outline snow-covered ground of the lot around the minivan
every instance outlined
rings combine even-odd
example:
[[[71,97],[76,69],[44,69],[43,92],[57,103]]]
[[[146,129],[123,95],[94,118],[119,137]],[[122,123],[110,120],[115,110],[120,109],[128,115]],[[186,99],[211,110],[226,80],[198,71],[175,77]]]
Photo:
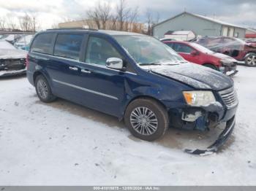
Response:
[[[115,117],[61,99],[43,104],[26,77],[0,79],[0,184],[256,185],[256,68],[238,70],[236,129],[204,157],[183,149],[208,146],[209,133],[170,129],[140,141]]]

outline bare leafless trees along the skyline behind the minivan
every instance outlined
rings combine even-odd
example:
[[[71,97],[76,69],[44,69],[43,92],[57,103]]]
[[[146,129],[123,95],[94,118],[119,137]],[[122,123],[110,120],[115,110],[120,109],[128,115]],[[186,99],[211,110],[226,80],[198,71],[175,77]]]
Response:
[[[113,7],[108,1],[98,1],[94,7],[86,10],[86,15],[82,18],[85,22],[84,25],[90,28],[132,31],[150,35],[152,26],[159,22],[159,14],[154,15],[150,10],[147,10],[143,21],[140,20],[139,23],[139,17],[143,16],[140,14],[139,7],[129,7],[127,2],[127,0],[118,0],[118,4]],[[93,22],[88,22],[89,20]],[[64,21],[71,20],[69,18]],[[58,24],[53,24],[52,28],[58,28]],[[17,18],[11,15],[0,17],[0,30],[2,31],[35,32],[39,29],[41,29],[39,20],[34,14],[25,13],[22,17],[18,17],[18,22]]]

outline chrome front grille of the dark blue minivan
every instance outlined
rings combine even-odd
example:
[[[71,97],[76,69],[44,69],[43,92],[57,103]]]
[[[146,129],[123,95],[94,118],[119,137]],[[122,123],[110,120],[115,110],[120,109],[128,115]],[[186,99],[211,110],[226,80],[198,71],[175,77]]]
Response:
[[[234,90],[233,87],[227,90],[220,91],[219,95],[221,95],[222,101],[224,102],[228,109],[233,108],[238,104],[236,90]]]

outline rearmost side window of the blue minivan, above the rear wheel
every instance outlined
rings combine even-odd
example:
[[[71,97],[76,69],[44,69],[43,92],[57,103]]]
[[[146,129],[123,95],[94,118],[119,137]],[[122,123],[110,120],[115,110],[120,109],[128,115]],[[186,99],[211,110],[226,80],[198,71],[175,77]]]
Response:
[[[55,34],[51,33],[37,35],[31,45],[31,52],[52,54],[52,42],[54,37]]]

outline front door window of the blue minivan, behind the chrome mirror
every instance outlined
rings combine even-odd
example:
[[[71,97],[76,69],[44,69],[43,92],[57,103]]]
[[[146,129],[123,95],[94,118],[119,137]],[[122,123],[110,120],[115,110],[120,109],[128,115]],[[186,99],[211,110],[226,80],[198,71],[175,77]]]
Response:
[[[86,63],[105,66],[108,58],[121,58],[121,55],[107,40],[91,36],[86,50]]]

